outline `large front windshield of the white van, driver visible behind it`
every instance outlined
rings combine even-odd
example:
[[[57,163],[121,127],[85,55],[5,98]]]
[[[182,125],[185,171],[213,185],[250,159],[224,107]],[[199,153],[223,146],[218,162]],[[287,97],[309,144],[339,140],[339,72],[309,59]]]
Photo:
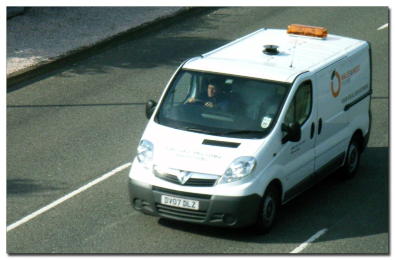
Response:
[[[181,70],[155,121],[186,131],[263,138],[273,128],[290,84]]]

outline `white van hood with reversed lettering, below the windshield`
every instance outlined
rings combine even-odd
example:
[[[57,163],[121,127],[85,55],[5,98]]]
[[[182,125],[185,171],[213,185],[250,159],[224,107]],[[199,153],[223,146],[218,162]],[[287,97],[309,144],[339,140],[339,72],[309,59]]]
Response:
[[[178,130],[150,122],[142,139],[154,145],[154,165],[222,175],[241,156],[253,156],[264,139],[239,139]]]

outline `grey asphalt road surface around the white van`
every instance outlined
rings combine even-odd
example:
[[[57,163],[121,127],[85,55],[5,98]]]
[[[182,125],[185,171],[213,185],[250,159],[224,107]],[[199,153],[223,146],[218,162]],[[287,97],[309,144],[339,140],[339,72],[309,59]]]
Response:
[[[260,28],[323,26],[372,46],[370,142],[357,176],[329,176],[285,204],[265,236],[131,209],[128,163],[158,100],[187,58]],[[387,8],[221,8],[151,33],[7,94],[7,226],[111,176],[7,231],[8,253],[388,253]],[[262,43],[264,45],[264,43]],[[124,169],[116,169],[119,166]]]

